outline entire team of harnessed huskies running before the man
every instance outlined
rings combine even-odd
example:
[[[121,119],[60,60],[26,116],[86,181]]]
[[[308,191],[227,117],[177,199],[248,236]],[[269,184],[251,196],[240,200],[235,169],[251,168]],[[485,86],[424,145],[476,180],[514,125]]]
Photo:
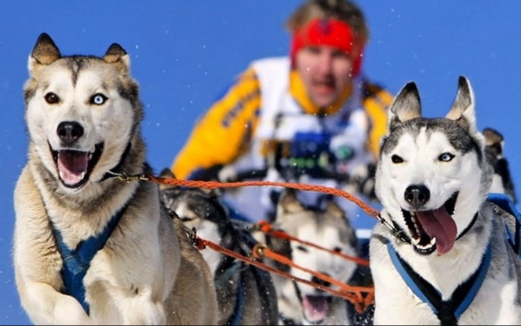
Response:
[[[117,43],[100,57],[63,56],[46,33],[28,58],[28,161],[14,193],[13,261],[31,321],[362,323],[346,300],[210,249],[200,252],[192,235],[196,229],[233,250],[272,243],[292,261],[342,282],[360,275],[354,263],[244,234],[215,194],[117,177],[153,171],[145,161],[143,106],[130,65]],[[511,243],[519,236],[518,220],[508,209],[516,198],[502,142],[492,129],[478,130],[474,93],[464,76],[445,117],[422,116],[415,83],[399,91],[377,164],[375,191],[385,223],[377,223],[370,237],[366,275],[375,301],[365,323],[521,324],[521,266]],[[222,214],[220,220],[213,214]],[[274,224],[360,256],[347,221],[336,204],[311,211],[288,190]]]

